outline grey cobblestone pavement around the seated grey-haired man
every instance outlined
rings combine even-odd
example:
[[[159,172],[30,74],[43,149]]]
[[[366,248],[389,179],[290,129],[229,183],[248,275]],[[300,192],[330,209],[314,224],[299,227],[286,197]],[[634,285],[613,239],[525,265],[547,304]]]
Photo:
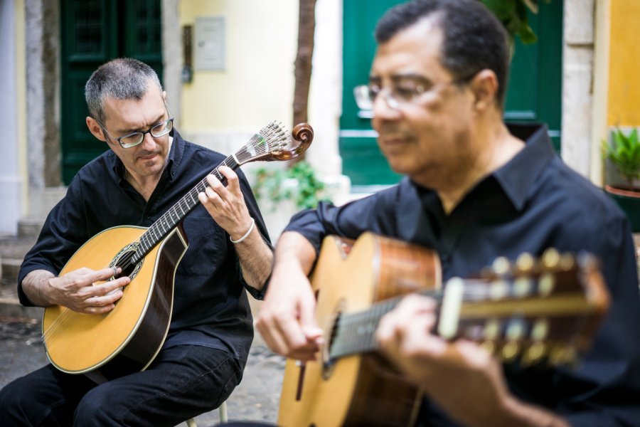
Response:
[[[47,363],[39,320],[0,317],[0,388]],[[229,421],[275,423],[284,372],[284,358],[256,335],[242,382],[227,401]],[[219,423],[218,411],[196,418],[198,427]],[[186,424],[181,424],[186,426]]]

